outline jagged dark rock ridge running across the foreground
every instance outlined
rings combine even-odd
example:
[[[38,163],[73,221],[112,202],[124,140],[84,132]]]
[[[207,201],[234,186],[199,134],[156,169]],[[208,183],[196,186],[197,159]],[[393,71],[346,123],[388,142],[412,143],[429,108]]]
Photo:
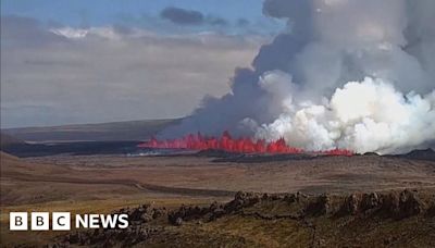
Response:
[[[427,199],[424,198],[426,201]],[[432,199],[432,198],[431,198]],[[428,206],[428,208],[426,208]],[[424,213],[435,215],[435,204],[425,203],[415,190],[391,193],[307,196],[296,194],[256,194],[239,191],[225,204],[213,202],[210,206],[182,206],[176,210],[153,208],[142,204],[138,208],[121,209],[116,213],[129,215],[129,226],[125,230],[88,230],[66,235],[55,247],[79,245],[90,247],[129,247],[152,238],[151,235],[164,233],[167,224],[184,226],[186,222],[202,224],[232,214],[240,218],[256,218],[264,221],[293,220],[306,226],[314,226],[314,216],[340,218],[338,214],[370,218],[405,219]],[[423,215],[422,215],[423,216]],[[310,224],[311,223],[311,224]],[[314,228],[314,227],[313,227]],[[385,244],[394,240],[385,239]]]

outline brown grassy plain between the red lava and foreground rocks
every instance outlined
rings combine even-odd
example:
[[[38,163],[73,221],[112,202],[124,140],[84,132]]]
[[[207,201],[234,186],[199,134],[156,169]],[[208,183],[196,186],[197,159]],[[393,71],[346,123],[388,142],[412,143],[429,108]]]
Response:
[[[0,181],[2,246],[20,244],[38,246],[64,235],[55,232],[10,232],[8,231],[10,211],[59,210],[72,213],[109,213],[120,208],[146,202],[175,209],[182,203],[203,206],[212,201],[225,202],[239,190],[344,195],[413,188],[428,195],[435,193],[434,161],[378,156],[322,157],[261,163],[213,160],[197,156],[52,156],[18,159],[2,152]],[[247,221],[249,223],[244,223]],[[203,240],[207,240],[206,234],[212,238],[210,234],[214,233],[222,236],[213,236],[222,241],[216,244],[224,246],[232,244],[229,240],[224,241],[225,235],[232,234],[235,237],[247,238],[252,241],[248,244],[256,246],[262,244],[277,247],[283,243],[293,243],[306,247],[301,240],[304,240],[303,235],[307,234],[302,232],[300,233],[302,236],[294,236],[291,239],[287,231],[297,226],[283,221],[277,222],[278,224],[273,225],[271,222],[226,216],[201,226],[197,234],[195,225],[192,227],[188,223],[177,232],[184,234],[183,237],[202,235]],[[286,225],[290,226],[287,228]],[[410,224],[406,224],[408,225]],[[272,238],[266,234],[269,231],[265,231],[271,228],[278,232],[276,228],[284,227],[287,231],[278,235],[279,238]],[[224,232],[225,228],[228,231]],[[256,233],[256,230],[263,231]],[[294,235],[297,233],[294,231]],[[156,244],[160,244],[159,240]],[[152,244],[148,243],[148,246]]]

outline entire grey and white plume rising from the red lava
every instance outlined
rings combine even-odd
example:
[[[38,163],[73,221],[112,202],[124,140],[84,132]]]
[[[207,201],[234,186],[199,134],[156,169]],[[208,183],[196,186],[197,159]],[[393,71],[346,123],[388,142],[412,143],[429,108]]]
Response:
[[[287,20],[232,92],[164,136],[200,131],[309,150],[402,152],[435,140],[435,1],[265,0]]]

